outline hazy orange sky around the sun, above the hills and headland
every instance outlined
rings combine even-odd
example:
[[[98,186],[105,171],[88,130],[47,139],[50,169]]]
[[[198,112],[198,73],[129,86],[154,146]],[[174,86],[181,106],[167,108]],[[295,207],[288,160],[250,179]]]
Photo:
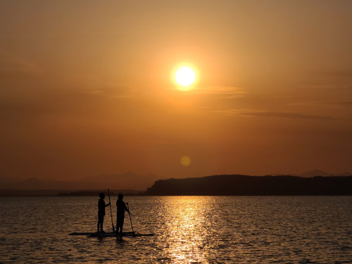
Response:
[[[352,172],[351,32],[348,0],[2,0],[0,174]]]

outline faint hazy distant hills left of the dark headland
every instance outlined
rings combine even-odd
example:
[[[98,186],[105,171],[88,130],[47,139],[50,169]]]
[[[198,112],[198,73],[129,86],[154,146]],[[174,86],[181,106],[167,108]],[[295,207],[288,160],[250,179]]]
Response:
[[[130,189],[145,191],[156,180],[165,179],[157,175],[137,175],[132,172],[124,174],[97,175],[80,180],[59,181],[53,179],[39,180],[34,177],[25,180],[0,176],[0,189],[12,190],[96,190],[96,189]]]

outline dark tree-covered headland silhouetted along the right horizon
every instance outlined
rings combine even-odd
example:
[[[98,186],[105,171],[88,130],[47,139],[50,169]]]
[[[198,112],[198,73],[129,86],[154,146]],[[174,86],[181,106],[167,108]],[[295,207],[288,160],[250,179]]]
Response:
[[[146,195],[352,195],[352,176],[215,175],[158,180]]]

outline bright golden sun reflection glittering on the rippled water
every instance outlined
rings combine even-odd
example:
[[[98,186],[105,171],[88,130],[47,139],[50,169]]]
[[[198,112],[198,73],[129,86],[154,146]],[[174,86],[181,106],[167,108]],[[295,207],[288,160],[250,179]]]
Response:
[[[166,251],[174,263],[207,263],[206,250],[211,236],[209,208],[203,196],[170,197],[166,210]]]

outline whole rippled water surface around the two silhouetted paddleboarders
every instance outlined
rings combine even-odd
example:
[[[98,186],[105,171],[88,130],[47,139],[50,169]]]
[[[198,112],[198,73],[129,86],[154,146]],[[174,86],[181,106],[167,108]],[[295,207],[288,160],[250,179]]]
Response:
[[[97,197],[0,197],[0,263],[352,263],[351,196],[124,200],[134,230],[156,236],[68,235],[95,232]]]

